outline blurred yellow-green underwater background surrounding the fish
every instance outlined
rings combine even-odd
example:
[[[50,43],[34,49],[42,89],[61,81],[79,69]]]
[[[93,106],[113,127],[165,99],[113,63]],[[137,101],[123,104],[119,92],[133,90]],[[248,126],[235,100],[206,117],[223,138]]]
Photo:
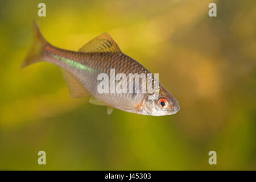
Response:
[[[38,3],[46,17],[38,17]],[[217,17],[208,16],[210,2]],[[256,2],[0,1],[0,169],[256,169]],[[32,19],[76,51],[109,32],[179,101],[151,117],[72,99],[53,64],[20,65]],[[47,164],[39,166],[38,151]],[[209,165],[208,152],[217,152]]]

